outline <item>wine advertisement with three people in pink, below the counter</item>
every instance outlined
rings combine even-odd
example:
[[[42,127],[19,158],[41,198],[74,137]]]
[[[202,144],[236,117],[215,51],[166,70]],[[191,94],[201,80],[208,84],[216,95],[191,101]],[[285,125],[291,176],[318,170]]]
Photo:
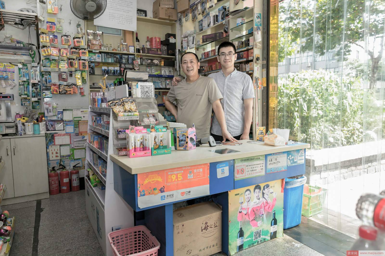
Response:
[[[283,183],[229,191],[229,253],[283,236]]]

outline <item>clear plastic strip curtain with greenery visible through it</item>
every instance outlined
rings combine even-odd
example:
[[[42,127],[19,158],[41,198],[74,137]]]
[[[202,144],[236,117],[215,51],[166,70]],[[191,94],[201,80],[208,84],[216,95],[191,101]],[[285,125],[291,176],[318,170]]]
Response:
[[[279,3],[269,128],[310,143],[308,183],[327,190],[312,218],[352,236],[359,196],[385,190],[384,48],[384,0]]]

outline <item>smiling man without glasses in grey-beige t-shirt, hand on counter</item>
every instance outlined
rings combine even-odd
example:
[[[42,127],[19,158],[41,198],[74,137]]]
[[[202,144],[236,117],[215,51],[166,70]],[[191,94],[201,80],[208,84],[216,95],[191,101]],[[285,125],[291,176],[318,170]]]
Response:
[[[184,123],[187,127],[194,123],[198,139],[210,135],[211,111],[214,110],[223,138],[234,141],[226,127],[220,102],[222,94],[213,78],[198,74],[200,64],[195,53],[187,52],[182,55],[181,66],[187,77],[180,81],[178,86],[171,87],[164,105],[178,123]],[[178,109],[174,101],[177,101]]]

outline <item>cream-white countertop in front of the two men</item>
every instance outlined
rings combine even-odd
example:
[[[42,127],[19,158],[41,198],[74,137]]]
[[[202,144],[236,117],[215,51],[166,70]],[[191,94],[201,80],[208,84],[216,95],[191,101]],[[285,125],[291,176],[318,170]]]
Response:
[[[247,143],[247,141],[249,140],[240,140],[239,142],[242,142],[243,144],[238,146],[220,145],[210,147],[208,144],[203,144],[195,150],[173,150],[171,154],[160,156],[129,158],[128,156],[117,156],[115,154],[111,154],[110,159],[129,173],[138,174],[149,171],[166,170],[181,166],[199,165],[203,163],[226,161],[236,158],[266,155],[310,147],[309,144],[299,144],[294,146],[269,146],[262,143],[251,144]],[[238,150],[239,152],[223,155],[211,152],[211,150],[223,148]]]

